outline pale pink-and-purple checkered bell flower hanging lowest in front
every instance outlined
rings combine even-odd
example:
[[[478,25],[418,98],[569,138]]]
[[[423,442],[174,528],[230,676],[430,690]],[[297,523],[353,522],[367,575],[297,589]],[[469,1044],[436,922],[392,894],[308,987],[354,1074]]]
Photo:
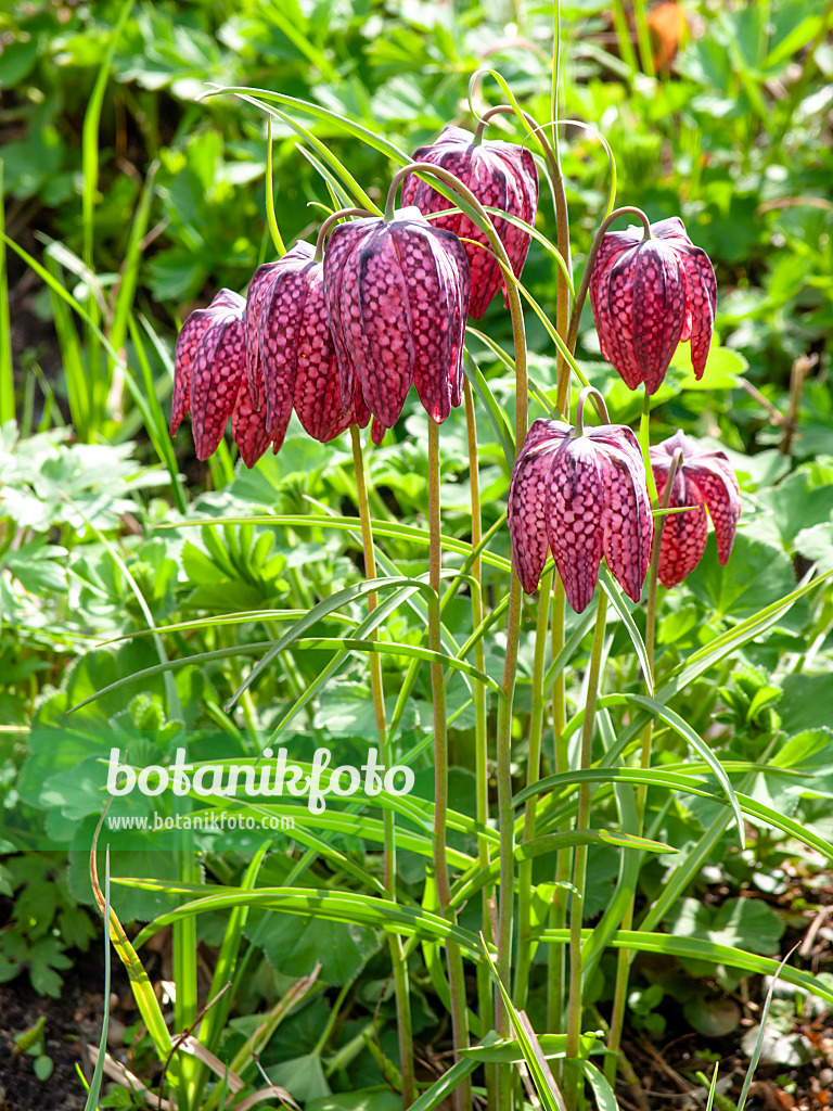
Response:
[[[509,488],[521,585],[534,591],[551,549],[576,613],[593,597],[602,557],[628,597],[640,600],[654,528],[636,437],[622,424],[583,428],[588,392],[579,399],[575,427],[535,421]]]

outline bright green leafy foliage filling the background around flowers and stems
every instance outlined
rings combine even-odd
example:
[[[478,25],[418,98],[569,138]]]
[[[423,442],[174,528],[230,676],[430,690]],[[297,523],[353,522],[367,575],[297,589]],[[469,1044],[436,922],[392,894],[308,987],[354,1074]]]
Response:
[[[544,1029],[543,957],[565,940],[549,914],[563,911],[571,891],[559,871],[555,850],[566,850],[558,838],[576,812],[580,784],[592,782],[592,829],[574,842],[590,844],[583,909],[594,933],[585,942],[585,1001],[608,1007],[615,978],[609,947],[660,954],[662,974],[650,961],[634,963],[631,1027],[662,1033],[682,1004],[690,1025],[715,1038],[737,1025],[730,993],[741,979],[772,973],[787,925],[753,892],[775,890],[787,865],[821,868],[820,855],[833,851],[830,580],[782,604],[812,568],[833,570],[830,11],[822,0],[790,0],[772,11],[757,2],[735,11],[700,6],[705,33],[682,43],[673,77],[654,80],[633,71],[626,49],[621,58],[610,51],[604,7],[562,6],[564,114],[604,131],[616,153],[620,203],[640,204],[652,220],[682,213],[714,261],[721,289],[720,343],[705,377],[694,380],[681,348],[652,399],[651,436],[683,428],[726,449],[743,514],[725,567],[710,539],[685,582],[661,591],[654,702],[644,698],[645,614],[613,598],[593,778],[565,772],[516,797],[532,799],[542,850],[515,857],[535,892],[528,1009],[535,1029]],[[182,953],[192,960],[201,941],[219,952],[212,990],[229,980],[233,989],[200,1037],[234,1062],[249,1095],[261,1083],[249,1052],[254,1038],[270,1081],[310,1111],[391,1111],[395,1103],[390,1088],[401,1080],[402,1061],[387,934],[404,939],[414,1037],[425,1043],[440,1037],[450,1001],[438,958],[448,937],[462,947],[468,970],[479,964],[481,978],[485,971],[473,895],[495,881],[500,864],[498,834],[479,823],[474,702],[480,685],[493,730],[506,654],[511,328],[495,302],[478,329],[488,342],[470,330],[466,360],[483,528],[496,527],[483,551],[483,588],[498,619],[472,629],[472,472],[465,420],[455,411],[442,429],[445,593],[442,653],[431,654],[428,461],[415,403],[367,459],[381,600],[374,620],[347,442],[324,447],[293,426],[280,454],[254,469],[225,446],[207,469],[185,433],[175,443],[168,434],[178,322],[220,287],[243,291],[255,266],[271,258],[262,104],[194,98],[209,83],[275,94],[269,103],[282,114],[272,119],[274,193],[289,246],[309,239],[321,207],[333,202],[322,161],[331,183],[338,178],[349,189],[352,177],[378,202],[402,152],[451,120],[470,126],[461,104],[486,52],[524,108],[548,120],[545,8],[529,6],[525,26],[512,28],[485,6],[379,0],[42,3],[0,16],[0,83],[17,128],[2,151],[7,234],[42,259],[44,270],[30,272],[51,277],[33,308],[54,329],[62,367],[50,386],[38,366],[42,352],[31,351],[22,382],[0,347],[0,418],[14,408],[9,383],[21,402],[20,424],[6,419],[0,429],[0,891],[13,900],[0,930],[0,980],[28,973],[39,992],[58,995],[70,950],[89,944],[87,852],[112,748],[137,769],[170,765],[185,735],[195,763],[254,761],[274,743],[305,768],[320,744],[360,764],[375,743],[367,678],[373,651],[388,721],[395,721],[393,754],[415,772],[407,799],[330,798],[318,823],[292,800],[264,803],[299,822],[294,834],[270,834],[267,845],[259,830],[200,831],[174,844],[142,829],[119,840],[106,828],[101,839],[102,849],[111,845],[120,919],[155,919],[180,931],[177,1023],[195,1019],[195,973],[184,974]],[[483,88],[492,102],[493,86]],[[509,138],[526,139],[503,119]],[[571,236],[579,278],[604,212],[608,162],[578,128],[568,130],[561,153],[578,213]],[[536,230],[554,241],[543,174],[542,196]],[[31,213],[40,240],[30,234]],[[0,264],[4,302],[6,267],[13,287],[19,257],[9,249]],[[523,280],[551,317],[555,278],[553,260],[533,242]],[[556,361],[532,312],[526,328],[534,419],[553,403]],[[589,310],[579,358],[611,419],[635,421],[639,399],[606,363],[593,361]],[[73,431],[58,427],[61,413]],[[538,697],[535,623],[528,601],[511,722],[518,792]],[[565,631],[568,650],[554,662],[548,655],[544,685],[563,672],[569,734],[578,740],[592,615],[582,623],[571,614]],[[453,925],[439,914],[431,885],[426,663],[438,659],[454,764],[446,815],[452,905],[460,911]],[[649,717],[653,763],[640,772],[635,745]],[[544,755],[544,772],[554,772],[551,747]],[[746,823],[741,845],[730,800]],[[200,807],[214,817],[260,817],[263,809],[242,799]],[[116,800],[109,813],[142,820],[153,809],[175,817],[169,799],[151,807],[138,795]],[[390,815],[395,904],[380,899]],[[520,842],[522,810],[515,819]],[[659,853],[663,845],[676,851]],[[44,848],[51,851],[34,851]],[[721,898],[705,900],[715,882]],[[623,940],[621,913],[634,892],[644,909]],[[301,978],[309,983],[294,994]],[[830,983],[801,968],[789,979],[815,983],[831,999]],[[750,1057],[757,1045],[763,1060],[795,1065],[806,1058],[806,1039],[794,1030],[792,1002],[781,1002],[742,1047]],[[272,1015],[265,1030],[264,1009]],[[525,1015],[512,1018],[515,1037],[495,1043],[483,1029],[480,1045],[421,1094],[420,1111],[438,1107],[481,1063],[522,1057],[542,1100],[553,1098],[550,1070],[561,1075],[564,1035],[535,1039]],[[593,1021],[589,1009],[584,1021]],[[42,1030],[40,1038],[32,1045],[41,1047],[37,1074],[44,1080]],[[612,1090],[586,1060],[599,1047],[591,1033],[581,1039],[583,1077],[608,1109]],[[178,1092],[204,1093],[208,1111],[221,1104],[221,1081],[208,1067],[178,1068],[169,1078]],[[113,1093],[100,1105],[133,1104]]]

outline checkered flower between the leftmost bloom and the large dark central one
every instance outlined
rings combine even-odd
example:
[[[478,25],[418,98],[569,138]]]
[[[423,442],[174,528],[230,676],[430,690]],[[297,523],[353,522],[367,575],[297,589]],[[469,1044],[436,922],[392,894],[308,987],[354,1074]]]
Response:
[[[314,248],[297,243],[277,262],[259,267],[249,286],[245,354],[249,388],[265,400],[265,429],[278,451],[294,409],[303,429],[328,443],[370,412],[353,391],[342,408],[335,347],[330,333],[323,264]]]

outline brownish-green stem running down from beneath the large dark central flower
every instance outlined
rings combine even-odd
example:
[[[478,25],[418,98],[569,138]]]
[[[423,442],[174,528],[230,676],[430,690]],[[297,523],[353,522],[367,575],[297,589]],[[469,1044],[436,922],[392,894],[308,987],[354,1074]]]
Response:
[[[429,584],[434,594],[429,602],[429,645],[434,652],[442,651],[440,587],[442,571],[441,521],[440,521],[440,428],[435,421],[428,421],[428,522],[429,522]],[[440,912],[449,921],[454,921],[450,908],[451,883],[449,862],[445,855],[446,812],[449,809],[449,739],[445,721],[445,675],[442,663],[431,664],[431,694],[434,703],[434,878]],[[445,960],[451,989],[451,1027],[454,1049],[469,1045],[469,1015],[465,1002],[465,980],[460,945],[451,939],[445,942]],[[455,1060],[459,1058],[455,1054]],[[471,1080],[466,1078],[454,1090],[455,1111],[471,1109]]]

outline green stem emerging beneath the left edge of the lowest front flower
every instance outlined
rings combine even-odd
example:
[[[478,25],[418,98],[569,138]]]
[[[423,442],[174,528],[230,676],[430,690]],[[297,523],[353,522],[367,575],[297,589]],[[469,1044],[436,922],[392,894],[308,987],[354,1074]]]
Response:
[[[541,579],[535,627],[535,657],[532,667],[532,717],[530,721],[530,753],[526,759],[526,785],[532,787],[541,777],[541,739],[544,727],[544,662],[550,624],[550,595],[553,572]],[[536,799],[529,799],[524,814],[523,840],[535,835]],[[514,1003],[519,1010],[526,1004],[530,969],[536,942],[532,940],[532,860],[521,862],[518,898],[518,968],[515,971]]]

